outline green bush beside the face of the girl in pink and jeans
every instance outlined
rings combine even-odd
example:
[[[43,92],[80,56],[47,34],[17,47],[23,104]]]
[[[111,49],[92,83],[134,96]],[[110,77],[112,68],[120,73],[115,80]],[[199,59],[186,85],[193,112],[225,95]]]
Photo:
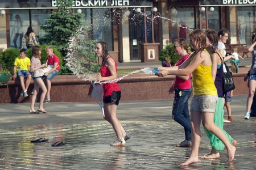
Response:
[[[171,60],[171,65],[174,66],[180,56],[177,56],[174,50],[174,44],[168,44],[166,48],[162,49],[160,52],[159,59],[160,61],[166,61],[166,59]]]

